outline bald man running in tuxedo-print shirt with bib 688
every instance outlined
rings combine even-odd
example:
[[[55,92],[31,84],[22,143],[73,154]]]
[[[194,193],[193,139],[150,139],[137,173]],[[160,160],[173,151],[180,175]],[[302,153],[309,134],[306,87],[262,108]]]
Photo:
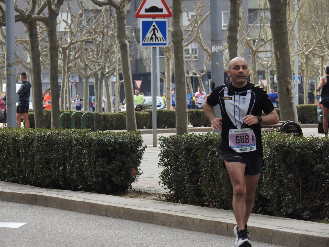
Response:
[[[231,82],[217,86],[204,101],[204,112],[213,130],[222,130],[222,157],[233,186],[233,231],[237,247],[251,246],[247,222],[254,204],[260,172],[264,167],[261,122],[277,124],[279,117],[266,90],[247,81],[247,62],[236,57],[229,62]],[[219,104],[221,118],[215,115]],[[261,116],[262,111],[266,116]]]

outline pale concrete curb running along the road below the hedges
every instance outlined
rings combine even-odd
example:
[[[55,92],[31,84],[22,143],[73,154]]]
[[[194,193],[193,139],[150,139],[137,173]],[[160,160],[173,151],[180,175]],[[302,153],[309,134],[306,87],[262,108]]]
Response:
[[[21,186],[24,186],[23,189],[25,190],[28,188],[33,188],[35,190],[40,189],[43,191],[45,190],[33,186]],[[120,197],[88,192],[63,190],[48,191],[50,192],[25,192],[0,188],[0,201],[47,206],[80,213],[133,220],[179,229],[234,237],[232,229],[236,225],[235,219],[233,212],[227,210],[125,198],[125,202],[135,204],[127,205],[122,203],[123,201]],[[64,193],[67,195],[52,193]],[[97,200],[86,199],[86,197],[96,198]],[[121,203],[110,202],[113,200],[121,200]],[[156,205],[156,207],[154,207],[154,205]],[[184,209],[186,212],[168,210],[165,208]],[[202,210],[203,212],[207,211],[211,217],[189,213],[189,211],[193,210]],[[220,218],[218,217],[218,214],[225,215],[226,218]],[[260,220],[259,223],[248,224],[248,230],[251,232],[250,240],[291,247],[329,247],[329,237],[327,233],[307,232],[262,224],[262,222],[266,221],[268,218],[269,220],[288,220],[288,223],[289,221],[295,223],[296,220],[257,214],[252,215],[255,217],[260,217]],[[298,221],[297,224],[299,224],[299,222],[300,224],[303,223],[302,221]]]

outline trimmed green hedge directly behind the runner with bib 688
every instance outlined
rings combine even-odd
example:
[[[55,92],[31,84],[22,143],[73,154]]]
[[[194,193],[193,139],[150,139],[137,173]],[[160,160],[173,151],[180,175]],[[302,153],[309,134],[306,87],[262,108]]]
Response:
[[[329,213],[329,139],[263,132],[265,168],[253,212],[295,219]],[[166,200],[232,210],[232,186],[221,157],[221,134],[160,137]]]

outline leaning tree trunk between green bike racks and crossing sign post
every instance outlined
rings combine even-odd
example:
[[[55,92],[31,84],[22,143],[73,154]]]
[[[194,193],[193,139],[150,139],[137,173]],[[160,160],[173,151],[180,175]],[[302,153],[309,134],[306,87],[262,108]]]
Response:
[[[135,117],[132,75],[129,60],[129,43],[127,41],[126,34],[126,15],[127,13],[123,6],[120,6],[120,9],[116,9],[116,36],[120,47],[122,77],[124,93],[126,96],[126,125],[128,131],[133,131],[137,129],[137,125]]]

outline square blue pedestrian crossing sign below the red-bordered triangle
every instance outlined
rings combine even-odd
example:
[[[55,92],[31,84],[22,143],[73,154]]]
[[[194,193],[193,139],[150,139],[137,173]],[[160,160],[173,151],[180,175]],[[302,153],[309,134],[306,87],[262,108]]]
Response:
[[[141,46],[167,46],[168,23],[166,19],[140,20]]]

